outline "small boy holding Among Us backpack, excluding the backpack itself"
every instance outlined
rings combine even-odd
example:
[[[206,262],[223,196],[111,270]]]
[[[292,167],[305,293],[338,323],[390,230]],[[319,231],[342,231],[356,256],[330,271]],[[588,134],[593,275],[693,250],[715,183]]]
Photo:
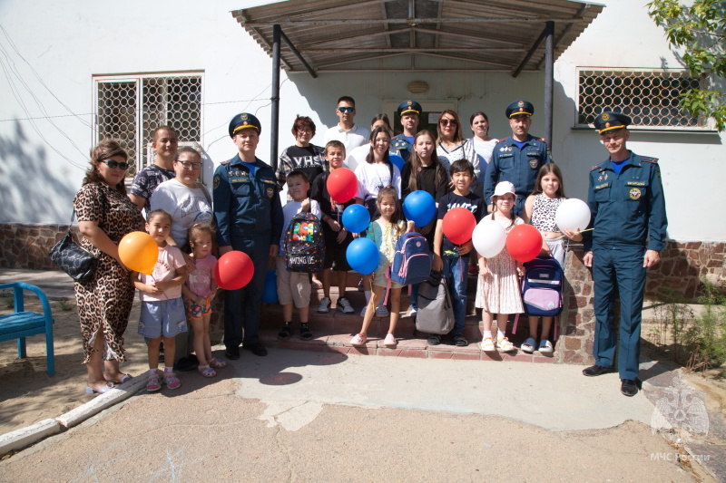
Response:
[[[308,175],[304,171],[295,169],[288,174],[288,196],[292,198],[282,207],[282,215],[285,218],[283,227],[289,225],[292,217],[300,212],[310,212],[316,217],[321,217],[320,207],[317,201],[308,198],[310,183]],[[312,339],[312,332],[308,325],[309,304],[310,304],[310,278],[309,274],[301,272],[290,272],[285,268],[285,231],[280,236],[280,253],[277,257],[276,272],[278,279],[278,298],[282,305],[282,320],[284,324],[278,337],[289,339],[292,335],[292,304],[298,307],[300,317],[300,339],[309,341]]]

